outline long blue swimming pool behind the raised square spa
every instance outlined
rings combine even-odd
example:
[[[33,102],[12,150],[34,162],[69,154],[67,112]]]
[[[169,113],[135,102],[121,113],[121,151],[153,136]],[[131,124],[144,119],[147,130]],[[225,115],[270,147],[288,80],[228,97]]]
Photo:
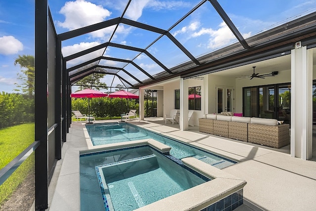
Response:
[[[152,138],[170,146],[170,155],[177,159],[194,157],[218,169],[223,169],[237,163],[222,156],[197,149],[196,147],[181,143],[178,140],[165,137],[128,123],[93,124],[86,125],[86,128],[93,145]]]

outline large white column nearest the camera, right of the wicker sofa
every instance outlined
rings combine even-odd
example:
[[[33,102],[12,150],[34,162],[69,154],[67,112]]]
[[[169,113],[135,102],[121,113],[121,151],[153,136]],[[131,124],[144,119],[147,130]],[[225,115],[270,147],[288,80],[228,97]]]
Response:
[[[291,50],[291,156],[312,158],[313,52]]]

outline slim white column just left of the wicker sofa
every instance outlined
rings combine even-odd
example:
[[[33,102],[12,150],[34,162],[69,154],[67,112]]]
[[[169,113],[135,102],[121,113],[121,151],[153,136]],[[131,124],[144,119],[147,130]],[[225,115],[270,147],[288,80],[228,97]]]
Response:
[[[189,128],[189,87],[188,80],[180,78],[180,130]]]

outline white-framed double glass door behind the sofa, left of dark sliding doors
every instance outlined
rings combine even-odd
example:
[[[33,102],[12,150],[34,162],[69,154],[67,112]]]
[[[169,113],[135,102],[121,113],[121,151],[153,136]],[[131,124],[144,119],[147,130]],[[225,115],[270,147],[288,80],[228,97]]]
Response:
[[[216,113],[233,112],[233,91],[231,86],[216,87]]]

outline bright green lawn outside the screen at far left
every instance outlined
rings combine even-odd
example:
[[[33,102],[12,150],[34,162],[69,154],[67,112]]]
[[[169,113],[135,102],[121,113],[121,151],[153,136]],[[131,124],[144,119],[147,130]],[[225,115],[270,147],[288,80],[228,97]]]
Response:
[[[35,139],[35,124],[0,129],[0,169],[25,150]],[[29,173],[34,173],[34,153],[0,186],[0,205],[8,199]]]

